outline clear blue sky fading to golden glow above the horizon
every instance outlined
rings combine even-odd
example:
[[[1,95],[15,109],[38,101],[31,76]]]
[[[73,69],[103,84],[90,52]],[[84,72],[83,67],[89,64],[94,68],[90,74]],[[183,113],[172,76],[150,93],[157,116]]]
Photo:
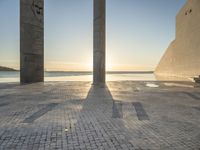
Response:
[[[186,0],[107,0],[107,70],[154,70]],[[0,66],[19,68],[19,0],[0,0]],[[92,70],[93,0],[45,0],[45,69]]]

